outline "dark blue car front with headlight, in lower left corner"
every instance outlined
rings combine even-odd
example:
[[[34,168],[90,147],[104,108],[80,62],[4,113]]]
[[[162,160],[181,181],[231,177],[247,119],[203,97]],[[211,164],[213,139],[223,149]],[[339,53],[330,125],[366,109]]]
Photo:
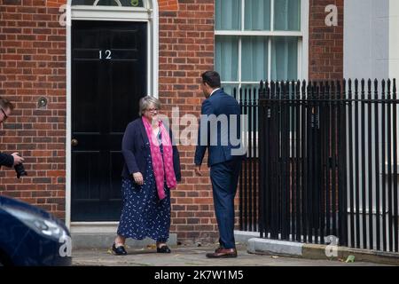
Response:
[[[66,226],[43,209],[0,196],[0,266],[72,263]]]

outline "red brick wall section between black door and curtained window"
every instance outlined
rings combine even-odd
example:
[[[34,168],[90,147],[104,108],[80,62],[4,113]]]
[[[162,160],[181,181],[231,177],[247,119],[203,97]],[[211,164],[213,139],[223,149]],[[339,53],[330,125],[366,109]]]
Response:
[[[160,99],[165,109],[200,114],[201,73],[214,65],[214,0],[179,0],[178,11],[160,12]],[[172,227],[182,242],[215,241],[212,190],[193,172],[194,146],[179,146],[183,181],[172,193]]]

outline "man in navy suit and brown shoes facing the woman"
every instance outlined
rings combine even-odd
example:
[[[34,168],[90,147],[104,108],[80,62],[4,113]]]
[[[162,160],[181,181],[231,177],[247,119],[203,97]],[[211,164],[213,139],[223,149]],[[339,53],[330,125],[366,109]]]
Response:
[[[198,146],[195,151],[195,172],[200,167],[206,150],[207,165],[214,195],[215,215],[219,226],[220,247],[207,257],[237,257],[234,241],[234,197],[237,192],[242,151],[239,138],[241,110],[236,99],[221,89],[220,75],[207,71],[202,76],[202,103]]]

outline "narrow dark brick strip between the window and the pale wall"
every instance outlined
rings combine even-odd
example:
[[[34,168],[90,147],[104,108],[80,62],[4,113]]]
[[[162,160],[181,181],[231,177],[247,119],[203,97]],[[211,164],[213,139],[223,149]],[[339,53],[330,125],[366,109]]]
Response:
[[[325,7],[338,8],[338,26],[325,26]],[[344,0],[309,0],[309,80],[343,77]]]

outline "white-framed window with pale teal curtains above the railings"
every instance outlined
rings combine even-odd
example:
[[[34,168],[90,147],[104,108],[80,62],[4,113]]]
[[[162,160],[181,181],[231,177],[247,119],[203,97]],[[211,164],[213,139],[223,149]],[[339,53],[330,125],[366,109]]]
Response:
[[[301,0],[215,0],[215,69],[225,91],[304,78],[301,10]]]

